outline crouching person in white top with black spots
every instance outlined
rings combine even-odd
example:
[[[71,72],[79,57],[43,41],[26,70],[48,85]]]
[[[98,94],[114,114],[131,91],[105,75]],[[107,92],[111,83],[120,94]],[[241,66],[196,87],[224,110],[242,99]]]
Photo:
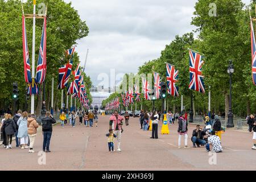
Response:
[[[216,136],[216,131],[212,130],[210,137],[208,137],[208,143],[206,144],[207,152],[222,152],[220,137]]]

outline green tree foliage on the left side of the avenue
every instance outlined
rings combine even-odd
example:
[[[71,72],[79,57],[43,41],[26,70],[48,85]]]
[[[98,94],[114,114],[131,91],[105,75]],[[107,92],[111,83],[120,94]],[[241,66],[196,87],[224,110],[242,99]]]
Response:
[[[67,57],[64,56],[65,49],[75,46],[78,39],[87,36],[89,28],[86,26],[85,21],[80,19],[77,10],[71,7],[71,3],[65,3],[62,0],[36,1],[36,5],[39,5],[39,3],[48,5],[46,74],[46,98],[48,100],[51,93],[49,90],[51,90],[52,77],[55,78],[55,96],[60,97],[60,92],[57,90],[58,68],[68,61]],[[25,14],[32,14],[32,4],[32,0],[23,3]],[[0,102],[2,106],[8,106],[11,103],[11,83],[18,82],[20,90],[19,103],[22,105],[25,102],[26,88],[23,73],[22,3],[18,0],[0,0],[0,10]],[[37,6],[36,14],[38,12],[39,8]],[[30,64],[32,65],[32,19],[26,19],[26,28]],[[43,19],[36,19],[36,63],[42,28]],[[76,53],[73,59],[73,70],[76,69],[77,64],[79,64],[79,56]],[[89,93],[92,82],[90,77],[85,76],[84,78],[86,89],[88,89]]]

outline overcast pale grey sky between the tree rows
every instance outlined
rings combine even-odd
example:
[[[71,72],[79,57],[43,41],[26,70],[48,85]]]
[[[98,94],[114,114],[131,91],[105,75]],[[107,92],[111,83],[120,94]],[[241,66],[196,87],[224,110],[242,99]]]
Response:
[[[98,75],[137,73],[145,61],[157,59],[175,35],[191,32],[197,0],[64,0],[72,2],[89,35],[78,41],[76,51],[85,72],[98,85]],[[243,0],[246,5],[250,0]]]

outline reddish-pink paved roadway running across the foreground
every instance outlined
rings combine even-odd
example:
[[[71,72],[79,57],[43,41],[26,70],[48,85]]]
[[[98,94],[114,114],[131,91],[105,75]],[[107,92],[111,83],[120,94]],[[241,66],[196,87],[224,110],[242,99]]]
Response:
[[[159,139],[150,139],[151,131],[140,130],[138,118],[130,118],[129,126],[123,126],[122,151],[110,154],[105,136],[109,116],[100,116],[98,127],[76,125],[62,129],[56,125],[50,145],[52,152],[44,153],[45,165],[38,163],[42,159],[38,154],[43,142],[39,129],[34,154],[20,147],[6,150],[1,146],[0,170],[256,170],[251,133],[227,130],[222,135],[224,152],[217,154],[216,165],[210,165],[212,158],[204,147],[177,148],[177,123],[169,127],[169,135],[160,134],[161,126],[162,122],[158,128]],[[195,127],[189,125],[189,146],[192,146],[190,138]]]

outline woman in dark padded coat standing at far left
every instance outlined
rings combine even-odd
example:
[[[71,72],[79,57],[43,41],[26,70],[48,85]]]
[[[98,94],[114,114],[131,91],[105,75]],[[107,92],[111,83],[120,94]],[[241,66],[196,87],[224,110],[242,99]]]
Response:
[[[16,125],[13,118],[11,118],[11,114],[7,115],[7,119],[5,119],[3,125],[6,134],[6,149],[9,149],[12,148],[11,142],[13,141],[14,133],[16,133]]]

